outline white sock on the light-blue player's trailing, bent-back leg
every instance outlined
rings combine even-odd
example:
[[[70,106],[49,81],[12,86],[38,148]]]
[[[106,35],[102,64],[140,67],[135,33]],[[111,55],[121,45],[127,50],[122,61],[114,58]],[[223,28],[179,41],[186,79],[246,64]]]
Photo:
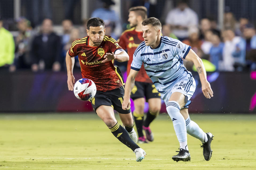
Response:
[[[202,143],[205,143],[208,141],[206,133],[203,132],[201,128],[192,120],[190,120],[190,117],[188,117],[186,120],[186,128],[187,133],[197,139],[199,139]]]

